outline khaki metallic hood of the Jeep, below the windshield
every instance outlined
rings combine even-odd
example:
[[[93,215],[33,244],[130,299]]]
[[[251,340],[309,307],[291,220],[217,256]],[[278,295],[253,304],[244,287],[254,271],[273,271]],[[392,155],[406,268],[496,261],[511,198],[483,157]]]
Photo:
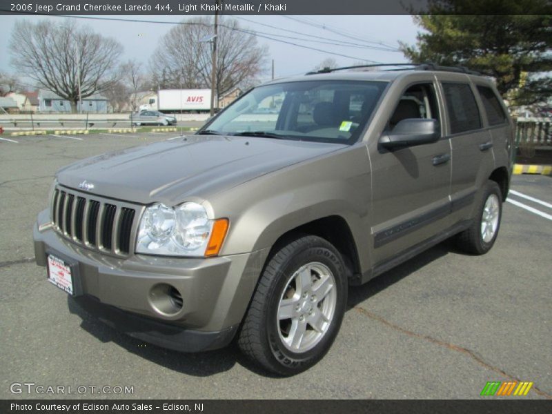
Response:
[[[141,204],[159,201],[175,205],[186,197],[206,199],[340,148],[344,145],[196,135],[77,161],[59,170],[57,181],[79,190],[79,184],[86,180],[93,186],[90,194]]]

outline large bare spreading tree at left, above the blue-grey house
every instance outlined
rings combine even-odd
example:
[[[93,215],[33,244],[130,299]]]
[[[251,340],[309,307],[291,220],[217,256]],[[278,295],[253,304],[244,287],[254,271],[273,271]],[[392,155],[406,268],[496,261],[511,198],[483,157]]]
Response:
[[[117,81],[122,46],[90,28],[65,21],[18,21],[10,43],[12,63],[23,75],[71,102],[111,88]]]

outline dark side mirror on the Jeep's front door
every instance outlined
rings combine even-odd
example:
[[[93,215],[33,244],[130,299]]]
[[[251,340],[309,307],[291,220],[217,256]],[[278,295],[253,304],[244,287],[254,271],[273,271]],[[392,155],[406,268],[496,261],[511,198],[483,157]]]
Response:
[[[393,148],[431,144],[441,136],[439,122],[436,119],[409,118],[400,121],[391,132],[382,135],[380,144]]]

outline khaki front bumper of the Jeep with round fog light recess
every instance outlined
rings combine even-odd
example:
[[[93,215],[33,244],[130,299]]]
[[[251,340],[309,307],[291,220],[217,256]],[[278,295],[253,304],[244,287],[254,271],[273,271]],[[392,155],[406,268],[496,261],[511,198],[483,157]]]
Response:
[[[33,233],[37,264],[46,266],[49,254],[70,262],[75,301],[92,315],[146,342],[190,352],[230,342],[268,255],[264,249],[210,258],[113,257],[58,235],[48,210]],[[165,286],[181,294],[181,308],[167,305]]]

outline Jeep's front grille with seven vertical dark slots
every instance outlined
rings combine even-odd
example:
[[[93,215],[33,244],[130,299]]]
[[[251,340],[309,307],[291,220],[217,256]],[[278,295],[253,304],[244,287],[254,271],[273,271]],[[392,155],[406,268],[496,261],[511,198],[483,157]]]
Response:
[[[52,222],[58,233],[88,248],[127,256],[134,250],[141,206],[56,186]]]

